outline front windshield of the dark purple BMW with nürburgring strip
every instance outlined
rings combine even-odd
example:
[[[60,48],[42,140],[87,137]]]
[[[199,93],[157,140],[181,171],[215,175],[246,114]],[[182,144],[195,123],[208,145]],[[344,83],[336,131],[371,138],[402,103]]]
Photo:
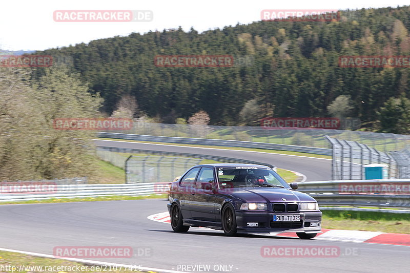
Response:
[[[217,173],[219,188],[243,186],[290,188],[283,178],[268,167],[218,167]]]

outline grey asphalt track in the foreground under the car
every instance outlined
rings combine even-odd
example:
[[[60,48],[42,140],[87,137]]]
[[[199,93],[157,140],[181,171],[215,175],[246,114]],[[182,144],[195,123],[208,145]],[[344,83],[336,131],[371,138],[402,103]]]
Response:
[[[240,235],[196,228],[187,234],[147,219],[166,211],[165,200],[0,206],[0,247],[53,254],[56,246],[131,246],[132,258],[90,259],[177,270],[178,265],[231,265],[217,272],[408,272],[409,248],[324,240]],[[263,258],[262,246],[336,246],[339,257]],[[144,254],[138,256],[138,249]],[[230,268],[227,266],[226,268]],[[202,271],[203,272],[203,271]]]

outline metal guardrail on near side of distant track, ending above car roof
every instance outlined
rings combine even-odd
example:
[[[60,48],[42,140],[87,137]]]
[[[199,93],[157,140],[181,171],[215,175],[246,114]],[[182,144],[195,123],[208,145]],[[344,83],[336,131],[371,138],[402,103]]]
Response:
[[[106,147],[106,146],[98,146],[98,149],[103,149],[106,151],[111,152],[118,152],[118,153],[135,153],[135,154],[152,154],[152,155],[169,155],[169,156],[181,156],[181,157],[191,157],[191,158],[202,158],[202,159],[210,159],[215,160],[223,163],[241,163],[241,164],[258,164],[271,167],[276,171],[276,167],[274,165],[257,162],[252,160],[245,160],[239,158],[231,158],[231,157],[223,157],[223,156],[211,156],[211,155],[201,155],[201,154],[190,154],[190,153],[177,153],[177,152],[165,152],[165,151],[153,151],[153,150],[142,150],[142,149],[133,149],[133,148],[117,148],[117,147]]]

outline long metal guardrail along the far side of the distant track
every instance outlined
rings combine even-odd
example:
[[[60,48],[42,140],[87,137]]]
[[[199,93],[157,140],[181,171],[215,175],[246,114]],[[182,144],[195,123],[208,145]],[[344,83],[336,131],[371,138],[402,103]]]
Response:
[[[133,134],[104,133],[104,132],[99,132],[97,136],[100,138],[116,138],[116,139],[128,139],[128,140],[137,140],[137,141],[197,144],[197,145],[226,146],[226,147],[239,147],[239,148],[257,148],[257,149],[267,149],[267,150],[310,153],[310,154],[317,154],[317,155],[332,155],[332,149],[296,146],[296,145],[288,145],[288,144],[264,143],[264,142],[207,139],[207,138],[148,136],[148,135],[133,135]]]

